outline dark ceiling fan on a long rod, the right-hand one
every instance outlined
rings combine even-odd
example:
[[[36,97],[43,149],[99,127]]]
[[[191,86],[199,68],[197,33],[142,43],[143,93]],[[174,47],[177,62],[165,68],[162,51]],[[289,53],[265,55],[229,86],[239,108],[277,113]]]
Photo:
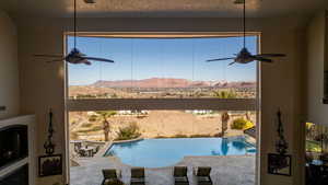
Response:
[[[229,63],[234,65],[234,63],[249,63],[251,61],[263,61],[263,62],[272,62],[273,60],[270,58],[273,57],[285,57],[285,54],[259,54],[259,55],[251,55],[248,49],[246,48],[246,0],[236,0],[236,4],[243,3],[243,39],[244,39],[244,47],[238,54],[235,54],[235,57],[227,57],[227,58],[218,58],[218,59],[210,59],[207,60],[208,62],[210,61],[220,61],[220,60],[233,60],[233,62]]]

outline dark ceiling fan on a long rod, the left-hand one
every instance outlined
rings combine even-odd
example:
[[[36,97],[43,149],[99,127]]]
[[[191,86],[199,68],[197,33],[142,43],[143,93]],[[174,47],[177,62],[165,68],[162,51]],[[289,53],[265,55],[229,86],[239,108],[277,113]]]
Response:
[[[72,50],[66,55],[34,55],[34,57],[42,57],[42,58],[51,58],[48,62],[52,61],[67,61],[73,65],[84,63],[91,65],[91,61],[104,61],[104,62],[114,62],[114,60],[106,59],[106,58],[97,58],[97,57],[87,57],[85,54],[82,54],[77,48],[77,0],[74,0],[74,47]]]

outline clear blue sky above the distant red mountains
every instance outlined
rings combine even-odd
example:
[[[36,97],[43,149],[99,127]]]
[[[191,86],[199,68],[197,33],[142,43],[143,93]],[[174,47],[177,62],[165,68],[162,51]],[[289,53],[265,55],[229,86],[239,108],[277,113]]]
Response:
[[[68,38],[68,50],[73,37]],[[188,80],[255,81],[256,62],[227,66],[227,61],[207,59],[233,57],[242,48],[242,37],[226,38],[95,38],[79,37],[78,48],[91,57],[115,60],[92,66],[69,65],[69,84],[90,84],[97,80],[140,80],[179,78]],[[247,48],[257,50],[256,36],[247,37]]]

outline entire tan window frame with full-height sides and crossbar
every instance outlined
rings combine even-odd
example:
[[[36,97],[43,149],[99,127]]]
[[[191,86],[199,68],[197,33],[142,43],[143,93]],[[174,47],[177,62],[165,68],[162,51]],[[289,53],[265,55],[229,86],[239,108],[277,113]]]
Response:
[[[63,33],[63,54],[67,54],[68,36],[73,32]],[[125,37],[125,38],[190,38],[190,37],[235,37],[243,36],[241,32],[79,32],[78,36],[93,37]],[[261,33],[247,32],[246,36],[257,36],[257,53],[261,49]],[[261,157],[261,63],[256,65],[256,97],[255,99],[69,99],[68,65],[65,62],[65,116],[66,116],[66,149],[69,147],[69,112],[85,111],[121,111],[121,109],[213,109],[213,111],[249,111],[256,112],[257,125],[257,152],[256,152],[256,176],[255,184],[260,181],[260,157]],[[70,182],[70,159],[69,150],[66,150],[66,182]]]

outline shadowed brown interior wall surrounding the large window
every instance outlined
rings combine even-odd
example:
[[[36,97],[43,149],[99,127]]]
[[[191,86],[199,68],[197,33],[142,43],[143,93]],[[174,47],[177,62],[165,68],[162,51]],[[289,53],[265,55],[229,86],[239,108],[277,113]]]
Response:
[[[79,19],[82,32],[236,32],[239,19]],[[71,19],[22,19],[19,21],[19,60],[22,113],[35,113],[37,117],[38,155],[44,154],[47,112],[55,113],[56,152],[65,153],[65,80],[63,63],[46,63],[32,58],[33,54],[60,54],[63,50],[63,32],[72,31]],[[298,184],[300,155],[300,61],[298,41],[303,24],[298,19],[254,19],[248,31],[261,32],[262,53],[284,53],[285,59],[265,63],[261,69],[261,185]],[[289,152],[293,155],[292,176],[267,173],[267,154],[274,152],[277,138],[276,113],[282,111]],[[99,172],[101,173],[101,172]],[[52,185],[65,177],[38,178],[39,185]]]

